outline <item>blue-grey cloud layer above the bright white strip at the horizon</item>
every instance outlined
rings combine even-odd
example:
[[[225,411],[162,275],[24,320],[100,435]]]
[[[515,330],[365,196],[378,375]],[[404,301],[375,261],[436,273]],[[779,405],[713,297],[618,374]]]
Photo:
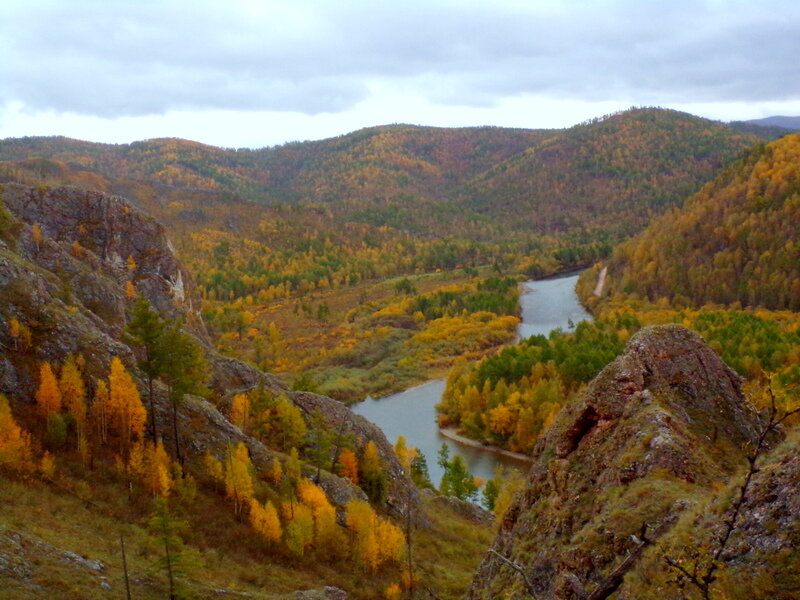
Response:
[[[255,3],[258,4],[258,3]],[[0,8],[0,101],[101,116],[434,102],[800,98],[800,4],[51,1]]]

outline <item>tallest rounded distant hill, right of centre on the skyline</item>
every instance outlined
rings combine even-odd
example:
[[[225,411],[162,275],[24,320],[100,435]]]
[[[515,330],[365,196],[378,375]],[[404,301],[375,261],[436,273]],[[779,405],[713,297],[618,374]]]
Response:
[[[619,240],[697,191],[754,141],[685,113],[631,109],[498,164],[459,198],[514,228]]]

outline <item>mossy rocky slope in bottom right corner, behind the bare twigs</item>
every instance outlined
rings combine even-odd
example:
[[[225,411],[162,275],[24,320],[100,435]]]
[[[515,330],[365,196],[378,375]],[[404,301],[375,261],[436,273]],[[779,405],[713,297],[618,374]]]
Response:
[[[758,463],[748,485],[735,527],[721,555],[722,567],[712,582],[712,598],[790,600],[800,590],[800,438],[787,441]],[[642,600],[699,597],[699,590],[665,558],[680,560],[691,573],[695,563],[708,564],[709,550],[719,547],[740,496],[744,476],[687,511],[675,528],[643,555],[626,582]],[[702,570],[700,572],[703,572]],[[634,596],[634,594],[630,594]]]

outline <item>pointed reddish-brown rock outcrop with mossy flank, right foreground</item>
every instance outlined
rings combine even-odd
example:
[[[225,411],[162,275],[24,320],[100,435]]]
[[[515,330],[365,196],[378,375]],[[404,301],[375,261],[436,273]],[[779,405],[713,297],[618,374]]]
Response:
[[[492,549],[523,568],[540,600],[591,592],[643,525],[657,539],[727,482],[761,426],[739,376],[697,334],[645,328],[539,440]],[[626,594],[616,597],[636,597]],[[525,595],[520,574],[487,554],[470,597]]]

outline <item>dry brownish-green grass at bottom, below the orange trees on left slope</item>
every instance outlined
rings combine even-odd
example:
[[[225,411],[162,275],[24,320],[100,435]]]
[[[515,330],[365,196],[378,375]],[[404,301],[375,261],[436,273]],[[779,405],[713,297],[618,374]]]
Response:
[[[155,566],[161,548],[147,531],[152,502],[136,494],[129,499],[124,483],[113,474],[96,471],[84,480],[65,474],[63,467],[55,484],[0,475],[0,557],[12,556],[30,571],[29,578],[18,579],[0,570],[0,600],[124,597],[120,533],[126,539],[133,597],[166,597],[166,577]],[[433,527],[414,535],[423,582],[443,598],[460,597],[492,531],[430,502],[426,510]],[[198,568],[185,581],[196,598],[219,597],[214,590],[228,590],[266,600],[333,585],[353,599],[366,600],[382,597],[400,579],[396,566],[370,574],[347,559],[325,564],[313,556],[298,559],[269,548],[236,521],[230,506],[211,489],[201,487],[195,503],[173,512],[189,524],[184,541],[198,553]],[[16,534],[21,556],[9,541]],[[105,570],[98,573],[64,560],[62,551],[100,560]]]

